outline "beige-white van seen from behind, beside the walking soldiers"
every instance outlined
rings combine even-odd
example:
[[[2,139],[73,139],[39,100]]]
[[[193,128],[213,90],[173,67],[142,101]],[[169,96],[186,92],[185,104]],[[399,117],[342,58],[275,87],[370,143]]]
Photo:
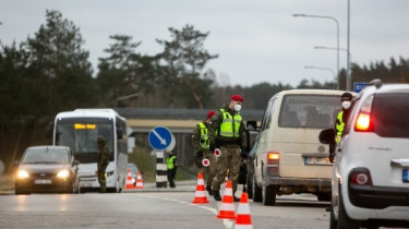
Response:
[[[293,193],[330,200],[333,164],[328,145],[320,143],[318,134],[334,128],[342,93],[291,89],[269,99],[253,157],[254,202],[275,205],[276,195]]]

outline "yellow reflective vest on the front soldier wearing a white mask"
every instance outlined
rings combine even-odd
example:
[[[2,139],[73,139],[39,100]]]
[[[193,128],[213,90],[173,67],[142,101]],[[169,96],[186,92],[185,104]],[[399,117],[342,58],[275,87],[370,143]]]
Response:
[[[227,136],[227,137],[239,137],[240,133],[240,124],[243,120],[239,112],[234,113],[234,116],[231,116],[228,111],[226,111],[224,108],[220,109],[222,114],[222,121],[220,124],[220,136]]]

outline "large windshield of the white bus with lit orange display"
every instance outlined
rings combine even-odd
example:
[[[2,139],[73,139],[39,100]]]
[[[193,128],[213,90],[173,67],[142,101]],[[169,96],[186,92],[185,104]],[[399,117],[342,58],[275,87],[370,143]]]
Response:
[[[56,145],[69,146],[81,162],[95,162],[97,137],[104,136],[113,160],[113,125],[107,118],[61,119],[56,125]]]

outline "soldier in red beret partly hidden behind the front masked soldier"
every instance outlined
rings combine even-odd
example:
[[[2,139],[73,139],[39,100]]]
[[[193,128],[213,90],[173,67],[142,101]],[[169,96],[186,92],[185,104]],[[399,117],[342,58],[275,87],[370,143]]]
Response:
[[[210,152],[210,145],[208,142],[207,128],[210,123],[210,119],[216,111],[210,110],[207,112],[207,119],[203,122],[196,124],[196,128],[193,130],[192,135],[192,145],[194,149],[194,162],[201,172],[204,172],[206,178],[206,191],[209,195],[213,195],[212,192],[212,182],[216,174],[216,157]],[[202,160],[206,158],[209,161],[207,167],[202,165]]]

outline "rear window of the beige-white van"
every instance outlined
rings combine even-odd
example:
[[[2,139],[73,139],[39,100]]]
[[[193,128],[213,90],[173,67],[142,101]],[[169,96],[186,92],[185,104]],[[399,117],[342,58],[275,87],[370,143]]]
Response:
[[[340,111],[339,96],[287,95],[281,105],[278,125],[281,128],[334,128]]]

